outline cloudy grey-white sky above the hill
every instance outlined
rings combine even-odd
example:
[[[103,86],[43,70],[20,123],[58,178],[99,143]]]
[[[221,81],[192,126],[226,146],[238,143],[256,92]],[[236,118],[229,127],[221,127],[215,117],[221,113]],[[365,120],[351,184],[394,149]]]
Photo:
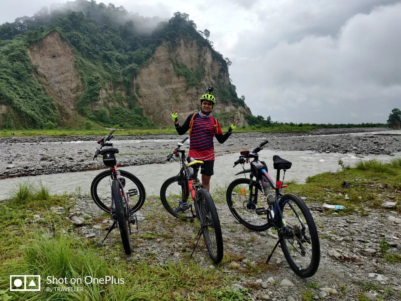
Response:
[[[0,23],[55,2],[64,1],[7,1]],[[386,122],[393,108],[401,109],[401,0],[108,2],[144,16],[186,12],[198,29],[209,29],[254,115]]]

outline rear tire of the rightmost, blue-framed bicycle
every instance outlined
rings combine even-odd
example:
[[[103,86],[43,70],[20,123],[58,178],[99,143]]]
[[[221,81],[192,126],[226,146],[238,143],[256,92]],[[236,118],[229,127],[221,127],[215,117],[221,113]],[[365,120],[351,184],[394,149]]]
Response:
[[[290,268],[299,277],[308,278],[308,277],[313,276],[319,267],[320,243],[319,243],[318,231],[316,230],[316,225],[312,218],[312,214],[310,214],[310,211],[309,211],[308,207],[306,206],[306,204],[304,203],[304,201],[302,201],[302,199],[300,199],[298,196],[293,195],[293,194],[283,195],[279,201],[279,207],[282,209],[282,211],[284,211],[284,206],[286,205],[286,203],[289,203],[289,201],[292,201],[297,205],[297,207],[300,209],[300,211],[302,212],[302,215],[304,216],[304,218],[306,220],[306,225],[308,226],[309,236],[310,236],[310,245],[312,246],[311,260],[310,260],[310,264],[308,265],[308,267],[303,268],[303,267],[298,266],[298,264],[294,261],[294,259],[292,258],[291,254],[290,254],[290,250],[288,248],[288,245],[287,245],[284,237],[281,238],[280,244],[281,244],[284,256],[286,257],[286,260],[287,260],[288,264],[290,265]],[[297,219],[297,221],[299,221],[299,220]],[[288,222],[287,222],[287,224],[288,224]]]

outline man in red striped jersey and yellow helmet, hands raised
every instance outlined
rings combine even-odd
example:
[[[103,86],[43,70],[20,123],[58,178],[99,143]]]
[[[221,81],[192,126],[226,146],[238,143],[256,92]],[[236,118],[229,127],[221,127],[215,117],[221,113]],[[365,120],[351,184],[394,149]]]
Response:
[[[177,110],[174,111],[173,108],[171,109],[174,127],[178,134],[184,135],[190,130],[188,160],[193,158],[203,161],[201,169],[202,184],[208,191],[210,187],[210,177],[213,175],[213,166],[215,164],[213,137],[216,136],[217,141],[224,143],[238,124],[238,121],[236,122],[234,120],[228,132],[223,134],[223,132],[221,132],[219,120],[212,116],[215,103],[216,101],[213,95],[203,94],[199,113],[190,114],[182,125],[178,123]]]

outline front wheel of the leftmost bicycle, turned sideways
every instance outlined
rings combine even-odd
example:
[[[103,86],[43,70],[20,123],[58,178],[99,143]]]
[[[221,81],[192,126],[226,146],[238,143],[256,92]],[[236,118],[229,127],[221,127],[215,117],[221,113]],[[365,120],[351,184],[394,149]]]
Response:
[[[124,191],[128,193],[130,212],[137,212],[145,202],[145,188],[132,173],[119,169],[119,179],[124,183]],[[99,173],[92,181],[91,195],[96,205],[107,213],[111,213],[111,170]]]

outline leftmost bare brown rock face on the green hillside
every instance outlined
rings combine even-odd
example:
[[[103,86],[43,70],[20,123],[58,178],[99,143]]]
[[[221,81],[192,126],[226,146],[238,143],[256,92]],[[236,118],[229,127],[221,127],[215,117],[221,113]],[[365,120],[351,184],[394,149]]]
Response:
[[[70,114],[76,111],[75,104],[83,93],[84,85],[75,66],[73,48],[62,41],[55,31],[30,45],[26,52],[32,65],[38,66],[38,75],[59,109],[62,105]]]

